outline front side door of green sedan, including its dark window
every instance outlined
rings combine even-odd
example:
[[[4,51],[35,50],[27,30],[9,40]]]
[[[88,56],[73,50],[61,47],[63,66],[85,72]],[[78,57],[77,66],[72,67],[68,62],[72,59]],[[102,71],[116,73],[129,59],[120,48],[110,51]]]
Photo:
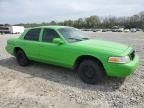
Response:
[[[48,28],[43,30],[42,42],[40,42],[40,57],[48,63],[66,65],[69,49],[66,44],[58,45],[53,43],[54,38],[60,38],[55,30]]]

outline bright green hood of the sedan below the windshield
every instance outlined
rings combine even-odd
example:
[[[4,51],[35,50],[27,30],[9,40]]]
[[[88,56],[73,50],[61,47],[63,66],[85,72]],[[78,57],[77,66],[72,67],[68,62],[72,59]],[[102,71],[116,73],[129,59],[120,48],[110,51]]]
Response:
[[[110,42],[110,41],[104,41],[104,40],[85,40],[76,42],[75,45],[77,47],[81,46],[88,49],[99,49],[103,51],[109,51],[109,52],[115,52],[121,54],[123,51],[128,49],[128,45],[116,43],[116,42]]]

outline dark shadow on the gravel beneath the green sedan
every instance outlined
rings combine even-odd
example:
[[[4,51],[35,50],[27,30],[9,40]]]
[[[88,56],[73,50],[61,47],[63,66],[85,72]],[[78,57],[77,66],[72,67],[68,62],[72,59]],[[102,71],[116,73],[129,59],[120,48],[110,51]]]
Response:
[[[0,66],[29,74],[31,76],[30,78],[39,77],[55,83],[91,91],[115,91],[121,87],[125,80],[124,78],[105,77],[96,85],[85,84],[79,79],[77,73],[72,70],[43,63],[32,63],[30,66],[21,67],[17,64],[14,57],[0,60]]]

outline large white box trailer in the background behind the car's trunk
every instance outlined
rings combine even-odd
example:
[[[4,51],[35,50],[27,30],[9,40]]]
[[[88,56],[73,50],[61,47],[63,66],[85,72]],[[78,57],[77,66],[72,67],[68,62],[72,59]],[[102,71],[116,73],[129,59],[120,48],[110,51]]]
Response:
[[[18,34],[24,32],[24,26],[10,26],[9,32],[12,34]]]

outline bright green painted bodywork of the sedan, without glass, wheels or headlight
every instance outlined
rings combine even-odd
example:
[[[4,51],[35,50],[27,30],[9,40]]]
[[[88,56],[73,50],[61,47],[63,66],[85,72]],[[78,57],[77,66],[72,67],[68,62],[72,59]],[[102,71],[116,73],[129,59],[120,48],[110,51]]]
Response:
[[[45,26],[41,28],[39,41],[24,40],[27,29],[19,38],[9,39],[7,41],[6,50],[14,55],[16,47],[21,48],[26,56],[33,61],[42,63],[59,65],[62,67],[73,68],[76,60],[81,56],[92,56],[97,58],[104,66],[108,76],[125,77],[135,71],[139,64],[139,57],[135,55],[133,60],[128,63],[109,63],[109,57],[128,56],[132,48],[114,42],[103,40],[83,40],[77,42],[68,42],[64,36],[58,31],[61,28],[70,28],[65,26]],[[56,38],[53,42],[43,42],[43,29],[50,28],[55,30],[60,38]]]

